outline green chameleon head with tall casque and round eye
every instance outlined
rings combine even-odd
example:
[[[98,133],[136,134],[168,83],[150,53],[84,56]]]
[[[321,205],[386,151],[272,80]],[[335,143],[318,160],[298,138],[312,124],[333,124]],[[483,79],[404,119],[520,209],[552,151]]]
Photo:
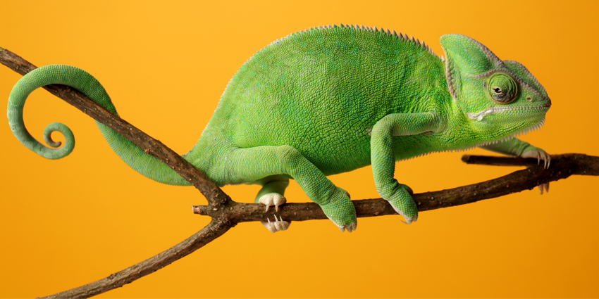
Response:
[[[543,125],[551,101],[524,65],[501,61],[464,35],[446,34],[440,43],[447,88],[473,132],[493,141]]]

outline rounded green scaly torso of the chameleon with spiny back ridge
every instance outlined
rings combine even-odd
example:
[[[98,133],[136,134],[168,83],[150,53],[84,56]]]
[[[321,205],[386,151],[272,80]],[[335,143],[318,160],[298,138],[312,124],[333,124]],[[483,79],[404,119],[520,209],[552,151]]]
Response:
[[[313,28],[242,65],[202,139],[235,148],[286,144],[336,174],[370,164],[369,130],[381,117],[446,101],[443,61],[424,43],[376,28]]]

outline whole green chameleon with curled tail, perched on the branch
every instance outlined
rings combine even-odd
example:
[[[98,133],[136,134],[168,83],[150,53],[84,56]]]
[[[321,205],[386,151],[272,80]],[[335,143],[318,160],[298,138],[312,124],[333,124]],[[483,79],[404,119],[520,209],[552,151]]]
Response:
[[[440,37],[445,58],[395,31],[333,25],[295,32],[258,51],[228,83],[197,144],[184,158],[219,186],[259,184],[266,210],[285,203],[295,179],[341,231],[357,227],[349,194],[326,176],[372,165],[376,189],[407,223],[418,211],[409,188],[393,177],[395,161],[480,146],[545,161],[550,156],[514,136],[543,125],[551,101],[515,61],[501,61],[474,39]],[[73,151],[60,123],[44,130],[52,148],[23,123],[31,91],[46,84],[78,89],[116,113],[94,77],[68,65],[47,65],[20,79],[8,100],[8,122],[23,145],[45,158]],[[125,163],[164,184],[189,185],[158,159],[97,123]],[[65,136],[65,144],[50,133]],[[271,231],[288,222],[263,222]]]

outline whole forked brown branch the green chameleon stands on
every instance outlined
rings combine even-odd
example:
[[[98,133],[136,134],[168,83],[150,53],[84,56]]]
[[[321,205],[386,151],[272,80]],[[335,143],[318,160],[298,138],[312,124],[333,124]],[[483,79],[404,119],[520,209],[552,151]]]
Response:
[[[25,75],[36,68],[35,65],[2,48],[0,48],[0,63],[21,75]],[[264,205],[231,201],[226,193],[223,193],[204,173],[187,163],[180,155],[164,146],[160,141],[130,125],[121,117],[111,114],[78,91],[61,85],[49,85],[44,88],[50,91],[51,94],[82,110],[83,113],[94,118],[94,120],[108,125],[187,179],[202,192],[209,202],[209,205],[194,206],[194,212],[212,217],[212,221],[204,229],[148,260],[128,267],[121,272],[111,274],[99,281],[57,293],[47,298],[87,298],[121,287],[192,253],[206,243],[218,238],[239,222],[264,220],[266,217],[273,215],[273,209],[271,209],[271,212],[264,212]],[[479,156],[464,156],[462,160],[476,164],[526,165],[531,167],[487,182],[443,191],[414,194],[414,200],[418,203],[419,211],[474,203],[475,201],[508,193],[533,189],[534,186],[539,184],[564,179],[572,174],[599,175],[599,157],[581,154],[554,155],[552,156],[551,167],[548,170],[536,166],[536,160]],[[381,198],[353,201],[353,203],[358,217],[395,214],[393,208]],[[316,203],[287,203],[280,208],[277,214],[288,221],[326,219]]]

